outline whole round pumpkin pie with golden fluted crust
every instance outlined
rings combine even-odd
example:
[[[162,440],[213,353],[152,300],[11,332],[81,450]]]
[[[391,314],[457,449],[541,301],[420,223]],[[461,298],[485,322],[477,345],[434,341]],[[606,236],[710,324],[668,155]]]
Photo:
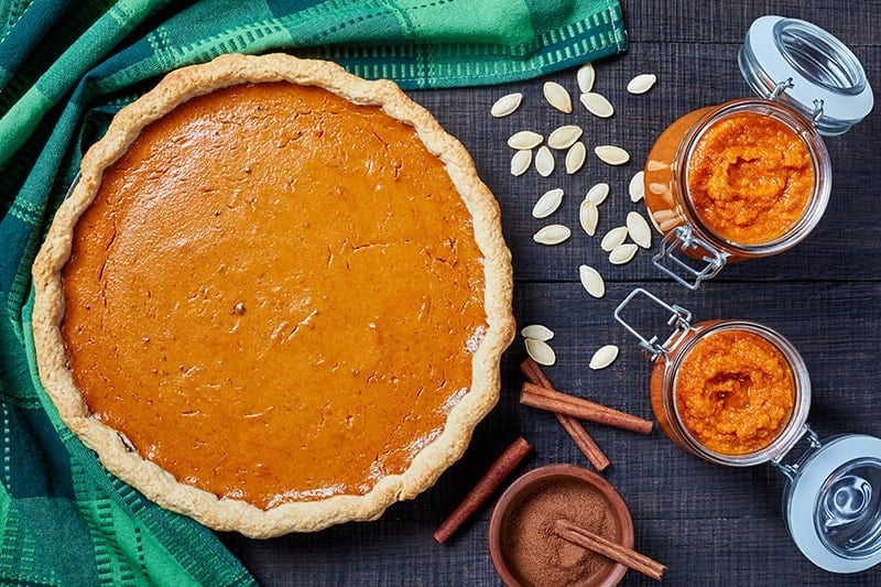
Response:
[[[258,537],[432,486],[513,336],[499,208],[461,144],[388,80],[280,54],[122,109],[33,276],[65,423],[161,506]]]

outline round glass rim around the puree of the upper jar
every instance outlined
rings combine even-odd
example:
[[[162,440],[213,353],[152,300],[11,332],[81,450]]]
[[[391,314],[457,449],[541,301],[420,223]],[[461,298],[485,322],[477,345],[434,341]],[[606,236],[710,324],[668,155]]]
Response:
[[[706,132],[722,120],[744,112],[769,116],[785,124],[804,143],[811,155],[814,171],[813,191],[807,206],[798,220],[780,237],[755,244],[733,241],[708,227],[694,205],[688,184],[688,167],[692,156]],[[735,257],[769,257],[793,248],[807,238],[811,231],[819,224],[831,193],[831,161],[826,144],[817,129],[801,113],[784,105],[763,98],[739,98],[710,109],[692,126],[681,141],[676,152],[676,165],[677,181],[674,183],[682,191],[681,199],[684,204],[683,210],[688,224],[698,237],[718,250]]]

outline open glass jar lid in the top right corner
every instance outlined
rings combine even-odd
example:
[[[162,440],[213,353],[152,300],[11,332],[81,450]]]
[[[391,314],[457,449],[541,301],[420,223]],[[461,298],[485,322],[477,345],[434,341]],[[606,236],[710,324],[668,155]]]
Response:
[[[738,63],[753,91],[812,119],[822,134],[844,134],[872,109],[872,88],[857,56],[809,22],[757,19]]]

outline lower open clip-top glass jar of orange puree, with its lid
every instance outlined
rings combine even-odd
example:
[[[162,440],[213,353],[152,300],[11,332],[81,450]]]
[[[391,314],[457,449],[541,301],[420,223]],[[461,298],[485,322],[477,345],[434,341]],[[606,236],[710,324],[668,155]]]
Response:
[[[670,313],[673,331],[663,343],[645,338],[622,316],[640,295]],[[856,573],[881,563],[881,438],[819,441],[807,425],[807,368],[788,340],[749,320],[693,324],[687,309],[643,289],[633,290],[614,317],[654,361],[652,407],[676,445],[711,463],[770,463],[783,472],[790,534],[817,566]],[[786,464],[804,439],[808,448]]]

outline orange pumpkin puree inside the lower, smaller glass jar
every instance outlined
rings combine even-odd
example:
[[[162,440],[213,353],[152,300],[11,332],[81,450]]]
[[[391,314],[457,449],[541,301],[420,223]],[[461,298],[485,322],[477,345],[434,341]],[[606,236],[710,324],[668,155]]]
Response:
[[[706,448],[754,453],[786,426],[795,380],[783,352],[746,330],[724,330],[697,341],[675,380],[679,418]]]

